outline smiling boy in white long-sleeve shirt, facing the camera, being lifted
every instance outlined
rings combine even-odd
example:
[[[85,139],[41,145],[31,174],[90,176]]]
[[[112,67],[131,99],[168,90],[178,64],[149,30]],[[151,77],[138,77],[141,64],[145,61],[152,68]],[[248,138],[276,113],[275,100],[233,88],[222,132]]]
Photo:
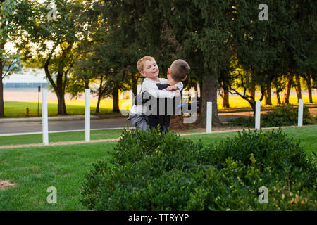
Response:
[[[175,79],[170,76],[170,68],[168,68],[168,79],[159,78],[159,67],[155,59],[151,56],[141,58],[137,62],[137,69],[143,77],[146,77],[142,84],[141,94],[147,91],[147,93],[154,98],[174,98],[175,96],[180,96],[180,91],[183,87],[181,80],[185,80],[186,77],[175,81]],[[159,90],[157,84],[169,84],[170,86],[166,89]],[[149,108],[147,108],[147,105],[133,103],[128,120],[131,120],[132,124],[136,127],[145,130],[149,127],[149,123],[146,120],[147,114],[149,114],[147,113],[148,111]]]

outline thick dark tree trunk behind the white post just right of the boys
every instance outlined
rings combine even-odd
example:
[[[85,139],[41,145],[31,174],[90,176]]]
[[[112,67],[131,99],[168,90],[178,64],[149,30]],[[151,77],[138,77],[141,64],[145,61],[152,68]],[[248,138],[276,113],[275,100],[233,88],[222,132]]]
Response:
[[[211,101],[212,105],[212,124],[213,126],[219,126],[220,121],[218,117],[217,109],[217,86],[216,86],[216,77],[214,75],[209,75],[203,77],[203,84],[200,84],[201,90],[201,109],[199,115],[199,127],[206,127],[206,111],[207,111],[207,102]]]

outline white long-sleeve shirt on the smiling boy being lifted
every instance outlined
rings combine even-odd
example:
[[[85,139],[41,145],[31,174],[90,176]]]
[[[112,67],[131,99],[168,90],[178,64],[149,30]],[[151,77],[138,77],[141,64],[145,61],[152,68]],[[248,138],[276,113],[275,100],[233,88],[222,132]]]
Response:
[[[160,84],[167,84],[168,82],[168,80],[165,78],[159,78],[159,81],[160,81],[159,82]],[[158,82],[149,78],[145,78],[142,84],[141,93],[143,93],[144,91],[147,91],[149,92],[149,94],[151,94],[151,96],[154,96],[154,98],[174,98],[175,97],[175,91],[167,91],[165,89],[159,90],[156,84],[158,84]],[[179,89],[178,91],[181,91],[183,88],[182,82],[178,82],[174,86],[178,87]],[[143,115],[145,112],[147,112],[147,110],[149,109],[145,105],[133,104],[130,110],[130,115]]]

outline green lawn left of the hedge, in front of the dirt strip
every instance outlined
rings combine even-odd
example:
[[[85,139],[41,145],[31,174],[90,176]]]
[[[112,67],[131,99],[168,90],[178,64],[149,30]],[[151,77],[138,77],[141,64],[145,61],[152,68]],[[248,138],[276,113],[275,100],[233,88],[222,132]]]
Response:
[[[17,184],[0,190],[0,210],[85,210],[80,185],[92,162],[108,159],[114,143],[0,151],[0,179]],[[57,204],[46,202],[49,186]]]

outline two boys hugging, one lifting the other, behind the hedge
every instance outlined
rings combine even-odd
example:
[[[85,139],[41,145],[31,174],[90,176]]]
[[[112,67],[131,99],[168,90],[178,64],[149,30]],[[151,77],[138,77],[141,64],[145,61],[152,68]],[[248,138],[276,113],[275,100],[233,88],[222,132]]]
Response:
[[[156,60],[151,56],[144,56],[137,62],[137,69],[145,79],[141,93],[135,96],[128,120],[131,120],[132,124],[139,129],[145,130],[147,127],[157,129],[160,125],[160,131],[167,132],[170,115],[166,110],[170,111],[170,109],[167,108],[166,103],[180,98],[183,88],[182,81],[187,78],[189,65],[185,60],[175,60],[168,68],[168,79],[164,79],[159,78],[159,67]],[[162,99],[165,105],[160,105]],[[151,104],[147,104],[149,101]],[[175,104],[173,103],[173,105]],[[159,112],[160,108],[165,109],[163,115]]]

